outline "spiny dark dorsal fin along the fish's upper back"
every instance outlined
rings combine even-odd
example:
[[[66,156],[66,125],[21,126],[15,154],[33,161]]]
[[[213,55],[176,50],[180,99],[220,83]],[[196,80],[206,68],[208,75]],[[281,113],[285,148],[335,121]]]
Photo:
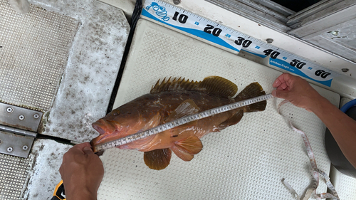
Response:
[[[200,91],[211,95],[217,95],[223,98],[231,98],[237,93],[237,86],[230,80],[219,76],[209,76],[204,78],[203,81],[185,80],[184,78],[174,78],[171,80],[165,78],[161,83],[158,80],[155,86],[152,87],[150,93],[161,93],[171,90],[189,90]]]

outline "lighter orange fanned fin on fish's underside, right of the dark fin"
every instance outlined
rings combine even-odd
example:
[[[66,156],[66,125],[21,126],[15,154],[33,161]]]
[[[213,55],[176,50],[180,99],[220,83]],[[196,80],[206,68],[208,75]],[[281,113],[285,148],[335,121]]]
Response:
[[[190,161],[193,159],[194,154],[197,154],[203,149],[203,144],[197,136],[190,136],[185,140],[176,142],[172,147],[172,151],[177,157],[184,161]]]

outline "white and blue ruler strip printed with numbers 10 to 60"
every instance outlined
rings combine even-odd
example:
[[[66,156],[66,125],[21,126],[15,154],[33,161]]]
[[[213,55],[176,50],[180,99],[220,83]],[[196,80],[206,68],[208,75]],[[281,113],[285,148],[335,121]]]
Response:
[[[269,65],[288,70],[329,87],[333,78],[340,75],[318,63],[295,56],[293,53],[163,1],[146,0],[142,16],[237,52],[246,51],[261,58],[269,56]]]

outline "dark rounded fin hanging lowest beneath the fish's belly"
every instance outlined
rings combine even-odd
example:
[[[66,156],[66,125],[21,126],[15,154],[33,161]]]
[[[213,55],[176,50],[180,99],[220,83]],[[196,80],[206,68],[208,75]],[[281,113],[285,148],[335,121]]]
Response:
[[[145,152],[143,159],[145,164],[150,169],[161,170],[166,168],[171,161],[172,151],[171,149],[155,149],[150,152]]]

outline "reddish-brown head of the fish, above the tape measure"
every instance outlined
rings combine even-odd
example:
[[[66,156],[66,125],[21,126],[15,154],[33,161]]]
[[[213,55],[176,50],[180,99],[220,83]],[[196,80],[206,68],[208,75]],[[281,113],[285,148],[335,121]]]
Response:
[[[94,146],[135,134],[145,124],[143,118],[135,107],[118,107],[92,124],[100,135],[90,143]]]

